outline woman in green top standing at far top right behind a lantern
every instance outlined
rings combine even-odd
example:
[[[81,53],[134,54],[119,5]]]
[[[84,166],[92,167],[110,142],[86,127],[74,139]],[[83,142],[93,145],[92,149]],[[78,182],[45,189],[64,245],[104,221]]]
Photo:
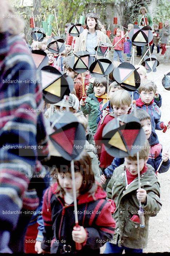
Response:
[[[144,22],[144,19],[142,18],[142,16],[145,16],[145,18],[147,18],[147,22],[146,22],[146,26],[152,26],[153,25],[153,22],[152,22],[152,19],[151,19],[151,16],[148,14],[148,11],[146,9],[146,7],[142,6],[140,9],[139,9],[139,18],[138,18],[138,25],[139,25],[139,22],[141,21],[141,26],[145,26],[145,22]],[[142,20],[141,20],[142,18]],[[141,57],[142,55],[142,46],[137,46],[137,57]]]

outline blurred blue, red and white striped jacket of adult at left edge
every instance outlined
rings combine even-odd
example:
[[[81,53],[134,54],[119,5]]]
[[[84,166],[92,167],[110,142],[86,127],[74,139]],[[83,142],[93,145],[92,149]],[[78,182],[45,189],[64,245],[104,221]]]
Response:
[[[0,222],[9,230],[16,226],[23,203],[27,209],[38,206],[35,188],[29,192],[27,188],[31,175],[43,169],[38,155],[39,159],[48,155],[35,72],[24,41],[0,34]]]

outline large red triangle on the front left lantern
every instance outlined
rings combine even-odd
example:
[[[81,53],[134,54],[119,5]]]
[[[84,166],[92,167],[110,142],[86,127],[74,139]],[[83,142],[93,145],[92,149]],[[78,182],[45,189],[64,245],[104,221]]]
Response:
[[[65,131],[56,132],[50,137],[58,143],[68,154],[72,154],[76,127],[69,128]]]

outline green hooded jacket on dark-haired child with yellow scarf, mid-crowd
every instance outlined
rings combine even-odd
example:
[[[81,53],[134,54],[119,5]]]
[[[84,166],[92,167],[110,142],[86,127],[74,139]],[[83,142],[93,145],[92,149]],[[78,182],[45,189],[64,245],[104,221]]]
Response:
[[[91,93],[86,98],[85,106],[80,106],[80,110],[83,112],[83,114],[88,115],[88,124],[93,135],[98,127],[96,119],[98,117],[100,103],[98,102],[94,93]]]

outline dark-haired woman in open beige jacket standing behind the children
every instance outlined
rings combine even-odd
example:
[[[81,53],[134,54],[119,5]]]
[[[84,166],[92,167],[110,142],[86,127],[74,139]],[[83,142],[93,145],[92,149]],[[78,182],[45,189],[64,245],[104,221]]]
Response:
[[[96,53],[94,48],[98,45],[99,40],[108,46],[112,46],[107,35],[99,30],[98,18],[95,14],[87,14],[85,25],[86,29],[84,29],[83,33],[81,33],[79,37],[76,37],[74,53],[81,50],[87,50],[92,56],[94,56]]]

